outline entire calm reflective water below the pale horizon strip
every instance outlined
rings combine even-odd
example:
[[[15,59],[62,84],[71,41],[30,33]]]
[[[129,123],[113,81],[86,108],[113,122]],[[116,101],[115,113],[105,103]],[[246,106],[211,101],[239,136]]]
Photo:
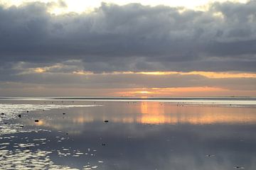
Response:
[[[0,112],[0,169],[256,169],[253,105],[3,99]]]

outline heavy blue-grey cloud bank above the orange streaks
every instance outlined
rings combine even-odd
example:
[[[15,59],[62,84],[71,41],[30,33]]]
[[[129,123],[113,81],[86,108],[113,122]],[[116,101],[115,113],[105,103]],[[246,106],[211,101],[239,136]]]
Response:
[[[92,72],[255,72],[255,1],[214,3],[207,11],[102,4],[91,13],[58,16],[47,12],[51,6],[0,7],[2,70],[10,63],[78,60]]]

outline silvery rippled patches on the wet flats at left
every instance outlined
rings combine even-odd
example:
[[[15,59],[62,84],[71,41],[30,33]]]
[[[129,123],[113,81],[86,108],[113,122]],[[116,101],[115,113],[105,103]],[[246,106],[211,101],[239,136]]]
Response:
[[[58,105],[32,105],[32,104],[1,104],[0,103],[0,139],[11,140],[14,136],[11,137],[1,137],[3,135],[10,135],[17,132],[38,132],[38,131],[48,131],[50,130],[28,130],[23,129],[23,125],[20,123],[10,123],[11,120],[18,118],[18,113],[26,113],[27,111],[41,111],[41,110],[50,110],[53,108],[73,108],[73,107],[92,107],[99,105],[67,105],[67,106],[58,106]],[[56,137],[59,139],[59,137]],[[25,137],[28,139],[28,137]],[[65,140],[65,137],[59,139],[60,142]],[[46,138],[35,139],[33,142],[41,142],[41,144],[46,145]],[[38,144],[31,142],[27,143],[14,143],[13,150],[6,149],[10,145],[9,142],[0,143],[0,169],[73,169],[69,166],[56,165],[50,160],[49,154],[53,153],[52,151],[43,151],[37,149],[36,151],[31,151],[30,147],[36,147]],[[36,149],[36,148],[35,148]],[[68,149],[63,149],[67,151],[64,155],[70,155]],[[60,155],[63,153],[59,152]],[[81,154],[75,153],[78,157]],[[83,169],[96,169],[97,166],[84,166]]]

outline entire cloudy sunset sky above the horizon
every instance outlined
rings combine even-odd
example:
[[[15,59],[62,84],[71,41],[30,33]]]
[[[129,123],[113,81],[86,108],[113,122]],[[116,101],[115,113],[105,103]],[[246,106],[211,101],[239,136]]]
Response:
[[[256,96],[255,9],[0,0],[0,96]]]

